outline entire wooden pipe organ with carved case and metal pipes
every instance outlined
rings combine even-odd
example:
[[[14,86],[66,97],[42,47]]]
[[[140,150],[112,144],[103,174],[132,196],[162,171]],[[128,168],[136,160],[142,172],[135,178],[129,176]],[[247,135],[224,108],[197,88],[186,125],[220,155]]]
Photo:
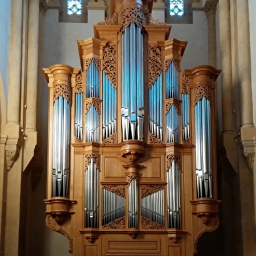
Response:
[[[197,253],[217,229],[215,80],[181,72],[152,1],[112,1],[78,40],[82,69],[44,69],[49,86],[46,225],[74,256]]]

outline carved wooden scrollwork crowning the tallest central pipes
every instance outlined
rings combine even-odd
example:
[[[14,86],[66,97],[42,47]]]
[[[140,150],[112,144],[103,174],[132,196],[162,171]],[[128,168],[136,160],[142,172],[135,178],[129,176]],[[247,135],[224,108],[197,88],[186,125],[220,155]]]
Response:
[[[121,32],[125,30],[125,27],[129,27],[131,23],[135,23],[137,27],[142,29],[144,24],[144,12],[139,7],[127,7],[121,12],[122,27]]]

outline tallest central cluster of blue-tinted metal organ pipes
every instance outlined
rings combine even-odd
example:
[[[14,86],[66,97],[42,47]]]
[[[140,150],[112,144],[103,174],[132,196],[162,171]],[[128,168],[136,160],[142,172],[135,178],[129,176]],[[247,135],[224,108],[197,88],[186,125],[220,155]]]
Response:
[[[123,140],[144,139],[143,35],[130,24],[121,37],[122,99],[121,127]]]

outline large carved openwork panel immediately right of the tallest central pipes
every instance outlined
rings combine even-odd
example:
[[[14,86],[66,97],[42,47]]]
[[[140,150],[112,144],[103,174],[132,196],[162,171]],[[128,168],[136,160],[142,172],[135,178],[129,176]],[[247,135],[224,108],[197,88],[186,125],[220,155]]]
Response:
[[[149,83],[149,88],[152,88],[153,83],[155,80],[157,80],[157,77],[161,72],[163,71],[162,65],[161,65],[161,57],[162,57],[162,52],[161,49],[157,46],[148,46],[149,50],[149,56],[150,56],[150,61],[149,61],[149,74],[150,74],[150,83]]]

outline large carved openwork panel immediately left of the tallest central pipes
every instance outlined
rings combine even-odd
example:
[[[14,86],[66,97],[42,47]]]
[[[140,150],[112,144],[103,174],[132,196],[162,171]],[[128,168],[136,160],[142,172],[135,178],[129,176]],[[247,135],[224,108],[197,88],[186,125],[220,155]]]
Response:
[[[108,45],[103,48],[103,71],[116,88],[116,46]]]

